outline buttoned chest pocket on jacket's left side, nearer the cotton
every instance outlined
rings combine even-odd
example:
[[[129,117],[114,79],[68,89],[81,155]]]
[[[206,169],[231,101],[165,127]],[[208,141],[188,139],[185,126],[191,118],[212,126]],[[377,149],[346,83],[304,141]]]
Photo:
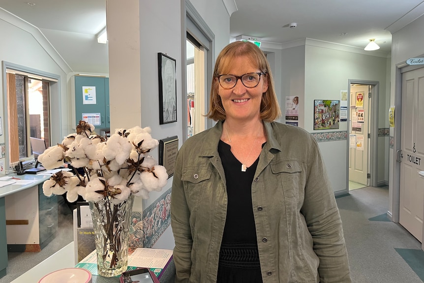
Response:
[[[184,191],[189,206],[199,201],[201,194],[206,190],[208,180],[212,171],[209,169],[187,168],[182,171],[181,181],[184,184]]]

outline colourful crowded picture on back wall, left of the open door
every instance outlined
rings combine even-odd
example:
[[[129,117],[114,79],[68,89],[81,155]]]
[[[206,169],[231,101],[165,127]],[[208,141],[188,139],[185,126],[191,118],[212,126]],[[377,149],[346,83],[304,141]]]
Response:
[[[314,100],[314,130],[338,129],[340,100]]]

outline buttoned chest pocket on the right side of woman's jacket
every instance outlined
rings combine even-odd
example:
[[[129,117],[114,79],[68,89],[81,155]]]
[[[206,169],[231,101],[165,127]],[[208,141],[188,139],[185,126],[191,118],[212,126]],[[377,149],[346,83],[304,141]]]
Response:
[[[302,165],[297,160],[282,160],[279,162],[271,163],[271,171],[277,177],[277,188],[281,190],[284,197],[299,198],[301,188],[301,174]]]

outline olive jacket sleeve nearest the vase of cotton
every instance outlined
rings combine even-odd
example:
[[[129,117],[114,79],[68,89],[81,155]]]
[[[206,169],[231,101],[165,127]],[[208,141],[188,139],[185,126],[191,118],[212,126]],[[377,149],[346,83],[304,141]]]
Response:
[[[190,229],[190,211],[182,182],[183,150],[180,149],[175,162],[171,194],[171,227],[174,233],[175,283],[186,283],[190,278],[191,249],[193,240]]]

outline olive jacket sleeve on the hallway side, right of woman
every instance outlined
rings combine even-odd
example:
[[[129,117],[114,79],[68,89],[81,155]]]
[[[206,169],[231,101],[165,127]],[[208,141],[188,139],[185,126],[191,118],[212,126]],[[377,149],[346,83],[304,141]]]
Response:
[[[321,283],[350,283],[342,223],[318,144],[312,138],[302,214],[319,257]]]

